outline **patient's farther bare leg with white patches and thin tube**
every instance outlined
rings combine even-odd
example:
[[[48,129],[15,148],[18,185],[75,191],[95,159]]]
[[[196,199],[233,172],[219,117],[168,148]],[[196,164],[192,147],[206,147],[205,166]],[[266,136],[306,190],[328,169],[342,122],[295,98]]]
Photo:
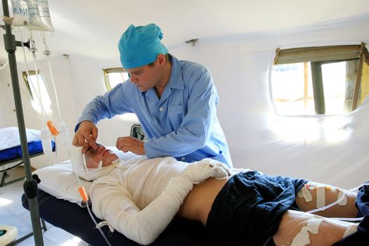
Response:
[[[343,194],[345,198],[342,202],[323,211],[315,212],[314,214],[325,217],[356,217],[358,214],[358,210],[354,204],[356,193],[332,186],[325,186],[321,183],[311,182],[308,186],[299,190],[299,195],[296,196],[296,203],[299,209],[307,212],[318,207],[330,205],[342,197]]]

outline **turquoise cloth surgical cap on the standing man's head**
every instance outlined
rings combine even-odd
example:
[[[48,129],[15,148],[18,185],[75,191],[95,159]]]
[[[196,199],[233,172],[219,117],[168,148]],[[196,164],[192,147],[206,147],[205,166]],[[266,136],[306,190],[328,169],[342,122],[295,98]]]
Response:
[[[120,62],[125,69],[153,63],[160,53],[168,50],[160,43],[163,34],[155,24],[135,27],[130,25],[119,40]]]

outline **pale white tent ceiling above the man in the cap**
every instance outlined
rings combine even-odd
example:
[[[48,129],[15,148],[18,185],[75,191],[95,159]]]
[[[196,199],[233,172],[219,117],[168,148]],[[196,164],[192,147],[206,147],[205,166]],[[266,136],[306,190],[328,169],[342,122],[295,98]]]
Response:
[[[55,29],[48,37],[53,55],[107,58],[118,56],[117,41],[131,23],[157,23],[164,32],[163,43],[174,46],[194,38],[216,39],[367,15],[369,1],[49,0],[49,8]],[[6,60],[4,40],[0,42],[0,60]]]

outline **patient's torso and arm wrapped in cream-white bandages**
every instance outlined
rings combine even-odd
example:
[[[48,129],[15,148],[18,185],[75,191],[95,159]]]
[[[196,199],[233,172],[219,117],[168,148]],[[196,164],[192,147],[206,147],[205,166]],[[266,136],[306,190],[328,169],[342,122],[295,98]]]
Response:
[[[173,157],[134,158],[93,181],[92,210],[127,238],[148,245],[176,215],[194,183],[228,174],[212,159],[190,164]]]

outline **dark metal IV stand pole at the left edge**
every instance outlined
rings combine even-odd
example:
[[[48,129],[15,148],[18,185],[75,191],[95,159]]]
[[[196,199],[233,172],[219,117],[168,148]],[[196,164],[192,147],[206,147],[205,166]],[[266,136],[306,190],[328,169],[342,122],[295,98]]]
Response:
[[[42,239],[41,224],[39,219],[39,203],[37,201],[37,182],[32,177],[30,154],[28,153],[27,136],[25,132],[25,120],[23,117],[22,100],[20,98],[20,87],[18,80],[17,63],[15,60],[16,46],[21,46],[19,41],[15,41],[15,36],[11,34],[11,24],[6,21],[9,19],[9,7],[8,0],[2,0],[3,12],[4,12],[4,46],[6,52],[8,52],[9,67],[11,70],[11,82],[13,85],[13,96],[15,102],[15,110],[17,112],[18,131],[20,136],[20,144],[22,148],[22,158],[25,165],[25,177],[26,181],[23,184],[23,188],[28,198],[28,204],[30,207],[32,229],[34,234],[34,245],[43,246],[44,241]]]

